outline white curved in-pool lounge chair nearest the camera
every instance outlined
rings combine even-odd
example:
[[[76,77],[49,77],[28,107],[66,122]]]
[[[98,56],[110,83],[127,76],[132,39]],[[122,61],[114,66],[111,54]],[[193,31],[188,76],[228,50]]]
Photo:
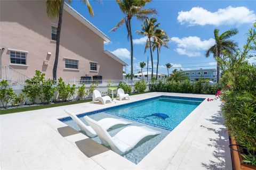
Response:
[[[111,137],[100,122],[94,121],[88,116],[84,116],[84,118],[98,134],[102,144],[110,146],[117,154],[124,154],[131,150],[145,137],[161,133],[146,126],[128,126],[119,131],[114,137]]]

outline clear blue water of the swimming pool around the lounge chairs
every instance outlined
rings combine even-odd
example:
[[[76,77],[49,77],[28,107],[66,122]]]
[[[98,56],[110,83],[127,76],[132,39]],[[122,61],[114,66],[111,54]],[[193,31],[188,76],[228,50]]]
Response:
[[[180,124],[199,104],[203,98],[185,98],[161,96],[151,99],[136,101],[130,104],[119,105],[99,111],[77,115],[85,124],[85,115],[94,120],[101,120],[106,117],[124,118],[132,122],[131,125],[147,126],[148,128],[161,131],[155,137],[143,139],[134,149],[122,155],[131,162],[138,164],[155,146],[161,142],[177,125]],[[61,118],[60,121],[66,123],[76,130],[80,130],[77,124],[70,117]],[[108,132],[113,137],[124,127],[110,129]],[[98,137],[92,138],[101,143]]]

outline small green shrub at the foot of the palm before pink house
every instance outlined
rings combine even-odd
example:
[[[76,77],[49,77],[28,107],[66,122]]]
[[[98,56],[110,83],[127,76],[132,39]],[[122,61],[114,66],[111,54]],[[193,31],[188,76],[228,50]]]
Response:
[[[44,94],[43,101],[46,101],[47,103],[51,102],[52,97],[55,93],[55,87],[52,87],[54,85],[55,81],[48,79],[43,80],[42,82],[42,92]]]

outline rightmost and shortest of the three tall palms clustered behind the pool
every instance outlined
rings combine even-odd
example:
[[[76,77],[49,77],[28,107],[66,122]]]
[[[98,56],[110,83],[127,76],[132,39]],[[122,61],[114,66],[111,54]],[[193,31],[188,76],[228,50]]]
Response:
[[[154,38],[153,41],[153,52],[155,50],[157,50],[157,65],[156,65],[156,80],[157,80],[157,76],[158,76],[158,65],[159,65],[159,52],[161,50],[161,47],[166,47],[169,48],[167,46],[168,41],[170,40],[169,37],[166,35],[166,32],[162,29],[156,29],[155,30],[155,36],[156,38]]]

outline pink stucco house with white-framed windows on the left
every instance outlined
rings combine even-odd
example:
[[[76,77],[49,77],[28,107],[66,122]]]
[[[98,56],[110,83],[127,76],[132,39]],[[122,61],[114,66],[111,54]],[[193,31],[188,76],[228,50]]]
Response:
[[[45,1],[0,1],[2,66],[33,77],[35,70],[52,78],[58,20],[46,15]],[[110,39],[74,8],[65,4],[57,77],[102,75],[122,79],[127,65],[104,50]]]

